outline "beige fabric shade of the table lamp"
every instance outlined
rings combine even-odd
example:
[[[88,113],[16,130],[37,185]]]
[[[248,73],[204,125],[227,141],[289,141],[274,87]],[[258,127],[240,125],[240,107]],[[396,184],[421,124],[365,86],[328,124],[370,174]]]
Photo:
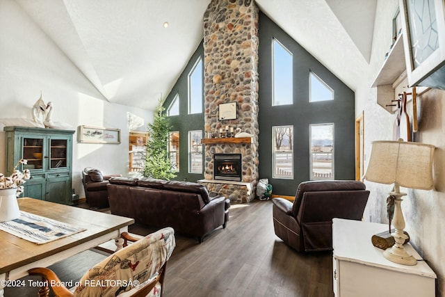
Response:
[[[430,190],[435,146],[406,141],[373,141],[364,178],[380,184]]]

